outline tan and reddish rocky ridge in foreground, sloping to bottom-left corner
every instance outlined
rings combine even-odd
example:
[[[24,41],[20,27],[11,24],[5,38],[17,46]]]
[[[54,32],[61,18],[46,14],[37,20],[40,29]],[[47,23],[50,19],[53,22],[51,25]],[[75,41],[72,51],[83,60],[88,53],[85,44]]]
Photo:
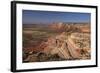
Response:
[[[86,59],[87,56],[85,54],[89,56],[86,49],[83,50],[77,47],[65,32],[48,38],[46,42],[41,42],[36,49],[38,51],[31,50],[30,55],[24,61],[79,60]]]

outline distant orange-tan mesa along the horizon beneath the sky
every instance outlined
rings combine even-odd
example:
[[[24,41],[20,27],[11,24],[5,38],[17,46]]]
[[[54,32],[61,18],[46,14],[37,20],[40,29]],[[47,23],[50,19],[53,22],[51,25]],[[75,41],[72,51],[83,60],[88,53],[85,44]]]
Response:
[[[83,29],[83,25],[84,25],[84,29]],[[52,30],[57,30],[59,32],[64,32],[64,31],[90,32],[89,23],[62,23],[62,22],[59,22],[59,23],[50,24],[49,28],[51,28]]]

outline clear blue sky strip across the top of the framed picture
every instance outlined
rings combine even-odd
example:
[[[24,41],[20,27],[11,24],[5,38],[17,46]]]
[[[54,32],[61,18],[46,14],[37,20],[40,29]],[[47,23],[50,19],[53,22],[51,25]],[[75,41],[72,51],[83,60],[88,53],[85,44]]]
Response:
[[[84,22],[89,23],[90,13],[54,12],[23,10],[23,24],[53,23],[53,22]]]

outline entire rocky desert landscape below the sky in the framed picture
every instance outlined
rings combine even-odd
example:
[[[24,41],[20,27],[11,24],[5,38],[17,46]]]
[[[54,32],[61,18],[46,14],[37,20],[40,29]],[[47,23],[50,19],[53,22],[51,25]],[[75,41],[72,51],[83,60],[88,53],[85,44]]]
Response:
[[[90,23],[23,25],[23,62],[91,59]]]

